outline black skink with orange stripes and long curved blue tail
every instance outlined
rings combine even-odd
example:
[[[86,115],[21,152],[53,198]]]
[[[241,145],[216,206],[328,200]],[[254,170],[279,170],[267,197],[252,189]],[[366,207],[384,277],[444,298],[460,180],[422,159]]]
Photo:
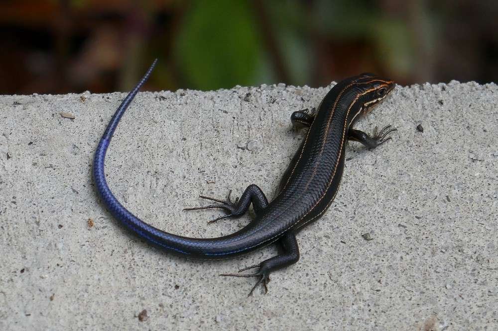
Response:
[[[116,110],[97,147],[93,175],[103,204],[128,230],[145,241],[189,258],[225,259],[277,243],[282,252],[239,272],[256,269],[250,274],[224,276],[257,277],[249,295],[258,284],[267,292],[269,274],[299,260],[296,233],[306,224],[322,216],[334,200],[344,169],[348,140],[358,141],[373,149],[390,138],[395,129],[389,125],[373,136],[353,128],[358,118],[368,113],[394,87],[390,80],[373,74],[361,74],[336,84],[313,112],[296,111],[291,115],[294,125],[308,127],[308,132],[280,181],[277,194],[268,202],[261,189],[249,185],[239,199],[215,199],[214,204],[186,210],[220,208],[223,218],[244,215],[252,204],[255,218],[243,229],[218,238],[188,238],[159,230],[129,212],[111,192],[104,173],[106,152],[124,111],[139,88],[150,76],[157,60],[128,93]]]

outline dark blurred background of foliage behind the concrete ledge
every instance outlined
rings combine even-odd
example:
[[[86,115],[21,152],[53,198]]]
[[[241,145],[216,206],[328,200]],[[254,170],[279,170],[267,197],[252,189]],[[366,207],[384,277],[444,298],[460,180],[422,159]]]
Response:
[[[140,3],[140,4],[138,4]],[[0,94],[498,81],[497,0],[2,0]]]

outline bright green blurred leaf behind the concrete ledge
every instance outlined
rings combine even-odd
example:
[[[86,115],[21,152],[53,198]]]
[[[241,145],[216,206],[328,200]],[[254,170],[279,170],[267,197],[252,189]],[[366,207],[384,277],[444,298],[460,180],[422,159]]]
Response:
[[[205,90],[253,83],[262,44],[247,1],[193,1],[177,38],[176,60],[192,87]]]

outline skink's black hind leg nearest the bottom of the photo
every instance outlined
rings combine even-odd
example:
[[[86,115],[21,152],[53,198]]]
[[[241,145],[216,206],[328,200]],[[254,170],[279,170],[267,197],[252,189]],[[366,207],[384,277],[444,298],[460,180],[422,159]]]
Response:
[[[220,276],[233,276],[233,277],[258,277],[258,281],[252,287],[249,292],[249,295],[252,295],[252,292],[256,288],[258,284],[262,284],[264,287],[264,293],[268,292],[268,282],[270,281],[270,273],[274,270],[283,268],[285,266],[296,263],[299,260],[299,247],[297,246],[296,236],[293,232],[286,232],[282,238],[278,240],[278,243],[282,246],[283,252],[276,256],[270,257],[267,260],[262,261],[261,263],[251,265],[250,267],[239,270],[239,272],[249,270],[252,268],[259,268],[259,270],[255,273],[251,273],[248,275],[238,274],[238,273],[224,273]]]

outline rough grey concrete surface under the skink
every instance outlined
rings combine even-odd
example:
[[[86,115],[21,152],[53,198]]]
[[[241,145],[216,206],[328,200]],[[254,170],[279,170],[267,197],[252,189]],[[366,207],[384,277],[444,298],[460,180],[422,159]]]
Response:
[[[328,88],[140,93],[111,144],[109,184],[169,232],[236,231],[249,217],[207,225],[217,211],[182,208],[250,183],[271,196],[303,139],[290,114]],[[349,144],[335,202],[298,236],[301,260],[250,298],[255,279],[218,274],[275,248],[174,257],[99,203],[92,158],[124,95],[0,97],[0,330],[498,329],[497,85],[397,86],[358,125],[393,124],[393,141]]]

